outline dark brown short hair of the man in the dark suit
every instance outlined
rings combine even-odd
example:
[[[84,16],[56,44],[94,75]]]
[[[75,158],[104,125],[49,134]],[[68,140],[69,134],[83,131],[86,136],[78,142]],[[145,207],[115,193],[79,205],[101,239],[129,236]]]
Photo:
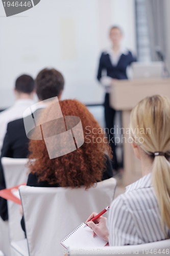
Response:
[[[40,100],[59,96],[64,89],[64,77],[56,69],[43,69],[36,78],[36,93]]]

